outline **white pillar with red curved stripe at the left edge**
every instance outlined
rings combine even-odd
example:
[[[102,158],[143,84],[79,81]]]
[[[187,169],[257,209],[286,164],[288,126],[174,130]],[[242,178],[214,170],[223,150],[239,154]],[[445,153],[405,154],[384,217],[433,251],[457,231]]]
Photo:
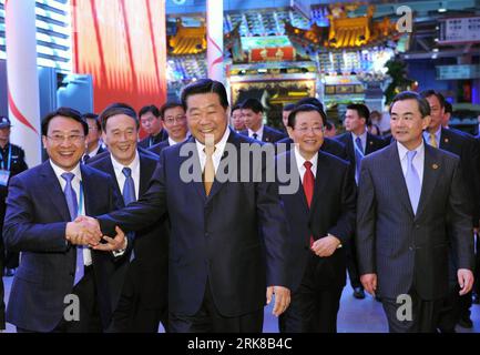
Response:
[[[10,141],[23,148],[29,168],[41,162],[35,34],[35,0],[6,0]]]

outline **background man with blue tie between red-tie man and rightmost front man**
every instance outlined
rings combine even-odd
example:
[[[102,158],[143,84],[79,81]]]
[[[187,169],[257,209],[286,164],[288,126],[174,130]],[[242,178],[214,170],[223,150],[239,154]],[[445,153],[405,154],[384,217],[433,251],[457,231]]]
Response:
[[[337,140],[346,146],[348,161],[351,164],[355,181],[357,182],[360,173],[360,162],[364,156],[385,146],[381,138],[368,132],[367,125],[369,120],[370,111],[365,104],[349,104],[345,113],[345,128],[347,132],[337,136]],[[345,246],[347,251],[348,275],[350,276],[351,288],[354,288],[354,297],[365,298],[364,287],[358,274],[355,239],[351,239]]]

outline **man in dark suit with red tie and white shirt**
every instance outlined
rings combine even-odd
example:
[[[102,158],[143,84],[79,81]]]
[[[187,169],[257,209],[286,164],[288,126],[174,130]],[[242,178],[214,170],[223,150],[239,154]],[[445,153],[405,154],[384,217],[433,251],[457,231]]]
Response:
[[[297,144],[277,158],[300,186],[280,194],[289,224],[292,303],[279,328],[287,333],[335,333],[346,282],[341,245],[355,230],[356,186],[348,162],[319,151],[324,130],[318,108],[295,108],[288,133]]]

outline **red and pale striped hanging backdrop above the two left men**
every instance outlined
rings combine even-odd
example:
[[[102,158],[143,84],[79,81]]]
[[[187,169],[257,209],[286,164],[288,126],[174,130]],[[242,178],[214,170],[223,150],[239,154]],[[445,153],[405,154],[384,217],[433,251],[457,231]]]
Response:
[[[165,0],[72,0],[74,71],[93,75],[94,110],[166,98]]]

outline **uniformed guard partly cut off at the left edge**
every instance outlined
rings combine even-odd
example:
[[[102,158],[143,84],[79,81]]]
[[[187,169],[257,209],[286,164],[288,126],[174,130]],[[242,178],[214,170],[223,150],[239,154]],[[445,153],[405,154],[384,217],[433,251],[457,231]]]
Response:
[[[8,183],[12,176],[29,169],[25,163],[24,151],[20,146],[10,143],[10,120],[6,116],[0,116],[0,226],[2,229],[6,215]],[[6,276],[13,276],[14,270],[18,266],[19,253],[6,251]]]

